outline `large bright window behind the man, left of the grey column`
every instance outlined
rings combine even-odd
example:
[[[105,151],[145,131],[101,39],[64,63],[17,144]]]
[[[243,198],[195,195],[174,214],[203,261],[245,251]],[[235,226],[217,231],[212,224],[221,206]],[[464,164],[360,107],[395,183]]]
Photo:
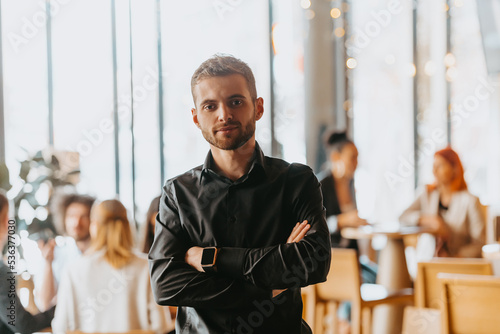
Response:
[[[276,3],[277,11],[286,7]],[[241,58],[254,71],[266,111],[257,140],[271,154],[269,4],[51,0],[49,8],[40,1],[3,0],[6,155],[12,181],[18,161],[27,155],[23,149],[33,153],[53,141],[57,151],[79,153],[80,192],[99,199],[118,197],[142,222],[165,179],[201,164],[208,152],[192,123],[190,79],[215,53]],[[300,40],[285,29],[300,19],[297,8],[296,17],[280,16],[281,53],[275,62],[281,66],[277,82],[293,83],[295,90],[300,50],[290,57],[287,51]],[[296,64],[290,66],[292,57]],[[283,66],[295,69],[293,80],[284,75]],[[294,120],[303,118],[300,104],[279,102],[278,108]],[[293,124],[297,128],[300,122]],[[293,135],[280,132],[283,146],[286,138],[296,139],[285,150],[288,157],[303,160],[304,146],[297,142],[301,136],[296,130]]]

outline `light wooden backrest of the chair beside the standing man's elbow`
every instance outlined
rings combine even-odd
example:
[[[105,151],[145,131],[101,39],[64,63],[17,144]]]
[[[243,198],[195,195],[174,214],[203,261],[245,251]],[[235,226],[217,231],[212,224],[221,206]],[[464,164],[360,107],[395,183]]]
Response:
[[[332,249],[332,261],[326,282],[316,284],[319,300],[361,300],[358,255],[354,249]]]

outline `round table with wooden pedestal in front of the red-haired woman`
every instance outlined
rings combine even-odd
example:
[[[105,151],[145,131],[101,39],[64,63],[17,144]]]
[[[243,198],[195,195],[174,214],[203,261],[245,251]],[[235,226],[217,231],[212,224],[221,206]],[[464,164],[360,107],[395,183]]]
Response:
[[[372,239],[375,236],[386,236],[387,243],[380,251],[378,260],[377,283],[388,290],[400,290],[412,287],[405,258],[403,239],[406,236],[428,233],[430,230],[421,227],[362,226],[359,228],[343,228],[341,233],[347,239]],[[380,305],[373,312],[373,334],[400,334],[403,325],[403,306]]]

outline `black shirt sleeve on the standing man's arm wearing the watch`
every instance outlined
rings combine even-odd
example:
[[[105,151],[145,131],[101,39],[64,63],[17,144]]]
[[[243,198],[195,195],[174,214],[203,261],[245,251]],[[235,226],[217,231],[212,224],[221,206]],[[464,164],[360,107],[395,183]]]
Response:
[[[296,221],[307,220],[311,225],[306,236],[298,243],[264,248],[222,247],[217,258],[219,273],[264,289],[299,288],[326,280],[331,247],[320,184],[303,165],[291,166],[287,184]]]

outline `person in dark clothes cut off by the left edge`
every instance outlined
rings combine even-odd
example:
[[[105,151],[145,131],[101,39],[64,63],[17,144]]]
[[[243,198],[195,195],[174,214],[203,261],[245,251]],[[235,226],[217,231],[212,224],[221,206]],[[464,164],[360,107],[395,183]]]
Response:
[[[14,225],[12,225],[14,226]],[[9,202],[4,194],[0,193],[0,249],[3,249],[9,233]],[[13,235],[13,233],[12,233]],[[8,249],[9,256],[11,249]],[[7,257],[9,259],[9,256]],[[54,316],[54,307],[49,310],[32,315],[26,311],[16,294],[15,264],[11,262],[12,268],[4,261],[0,261],[0,333],[33,333],[50,327],[50,321]]]

